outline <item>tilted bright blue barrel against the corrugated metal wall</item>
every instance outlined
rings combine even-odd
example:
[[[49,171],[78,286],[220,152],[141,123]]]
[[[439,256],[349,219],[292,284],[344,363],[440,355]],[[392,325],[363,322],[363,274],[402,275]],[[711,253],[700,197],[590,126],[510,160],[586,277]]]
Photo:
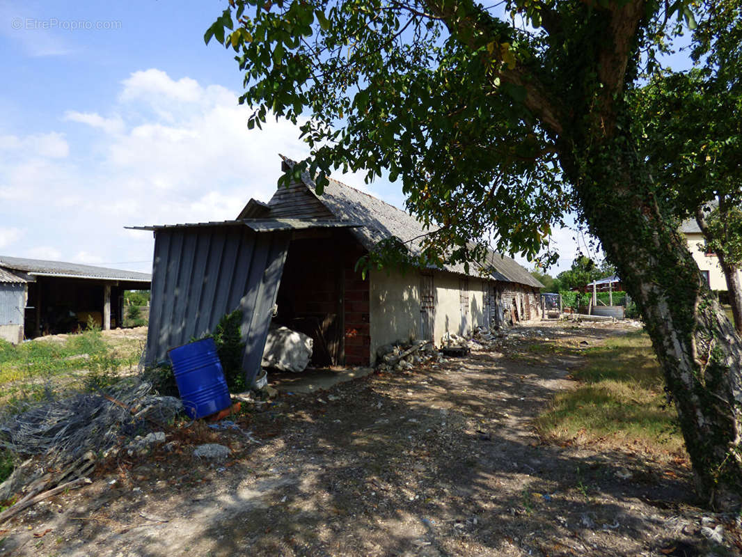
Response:
[[[185,411],[198,419],[229,408],[229,388],[214,339],[197,340],[168,351]]]

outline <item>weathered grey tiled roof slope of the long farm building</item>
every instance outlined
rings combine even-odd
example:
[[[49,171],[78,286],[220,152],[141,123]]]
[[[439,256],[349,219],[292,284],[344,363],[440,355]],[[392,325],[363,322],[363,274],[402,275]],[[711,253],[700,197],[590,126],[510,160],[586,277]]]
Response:
[[[289,165],[293,164],[293,161],[285,157],[283,160]],[[315,194],[315,184],[306,172],[302,175],[302,181],[309,192],[315,195],[335,218],[363,225],[353,228],[351,232],[367,250],[372,249],[378,241],[384,238],[396,236],[401,241],[410,242],[408,245],[411,246],[411,250],[419,253],[420,242],[414,238],[429,231],[426,231],[416,218],[407,212],[332,178],[329,179],[329,184],[322,195]],[[462,275],[481,276],[473,267],[476,265],[470,265],[469,273],[464,271],[464,265],[460,263],[446,265],[445,269]],[[543,287],[543,284],[533,278],[531,273],[528,273],[508,255],[490,250],[485,267],[493,269],[491,274],[495,280],[526,284],[536,288]]]

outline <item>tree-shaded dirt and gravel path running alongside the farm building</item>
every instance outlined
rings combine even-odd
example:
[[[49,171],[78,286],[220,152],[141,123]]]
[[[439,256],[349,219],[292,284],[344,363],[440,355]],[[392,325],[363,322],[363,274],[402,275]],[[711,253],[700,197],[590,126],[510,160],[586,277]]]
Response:
[[[480,352],[283,396],[244,424],[260,444],[208,430],[226,463],[184,439],[123,458],[5,524],[0,556],[735,554],[700,535],[687,469],[542,443],[531,420],[577,360],[542,363]]]

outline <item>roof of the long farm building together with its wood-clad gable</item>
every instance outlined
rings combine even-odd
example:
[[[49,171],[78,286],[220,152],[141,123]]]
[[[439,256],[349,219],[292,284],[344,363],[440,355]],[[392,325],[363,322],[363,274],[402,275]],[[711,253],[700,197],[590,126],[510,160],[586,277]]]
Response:
[[[283,157],[283,161],[289,166],[294,164],[286,157]],[[367,250],[372,250],[381,240],[396,236],[406,242],[413,253],[420,253],[421,243],[416,238],[430,231],[425,230],[412,215],[333,178],[329,178],[329,184],[322,195],[316,195],[315,183],[308,173],[304,172],[301,179],[301,184],[292,184],[289,188],[279,188],[275,192],[268,203],[271,216],[279,213],[284,218],[322,215],[322,218],[352,221],[362,225],[353,229],[352,233]],[[240,215],[249,214],[249,208],[248,203]],[[543,287],[531,273],[508,255],[490,250],[487,261],[482,261],[481,264],[492,269],[492,278],[495,280]],[[476,265],[470,265],[469,273],[464,270],[464,264],[460,263],[446,265],[444,268],[452,273],[481,278],[481,275],[474,272],[475,267]]]

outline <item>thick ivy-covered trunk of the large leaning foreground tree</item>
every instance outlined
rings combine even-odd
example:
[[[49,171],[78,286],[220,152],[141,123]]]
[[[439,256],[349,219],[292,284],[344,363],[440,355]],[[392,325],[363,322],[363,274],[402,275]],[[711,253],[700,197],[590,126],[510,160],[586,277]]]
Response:
[[[574,146],[574,145],[573,145]],[[658,206],[631,142],[562,157],[591,232],[636,301],[663,368],[697,492],[717,508],[742,501],[742,342]]]

